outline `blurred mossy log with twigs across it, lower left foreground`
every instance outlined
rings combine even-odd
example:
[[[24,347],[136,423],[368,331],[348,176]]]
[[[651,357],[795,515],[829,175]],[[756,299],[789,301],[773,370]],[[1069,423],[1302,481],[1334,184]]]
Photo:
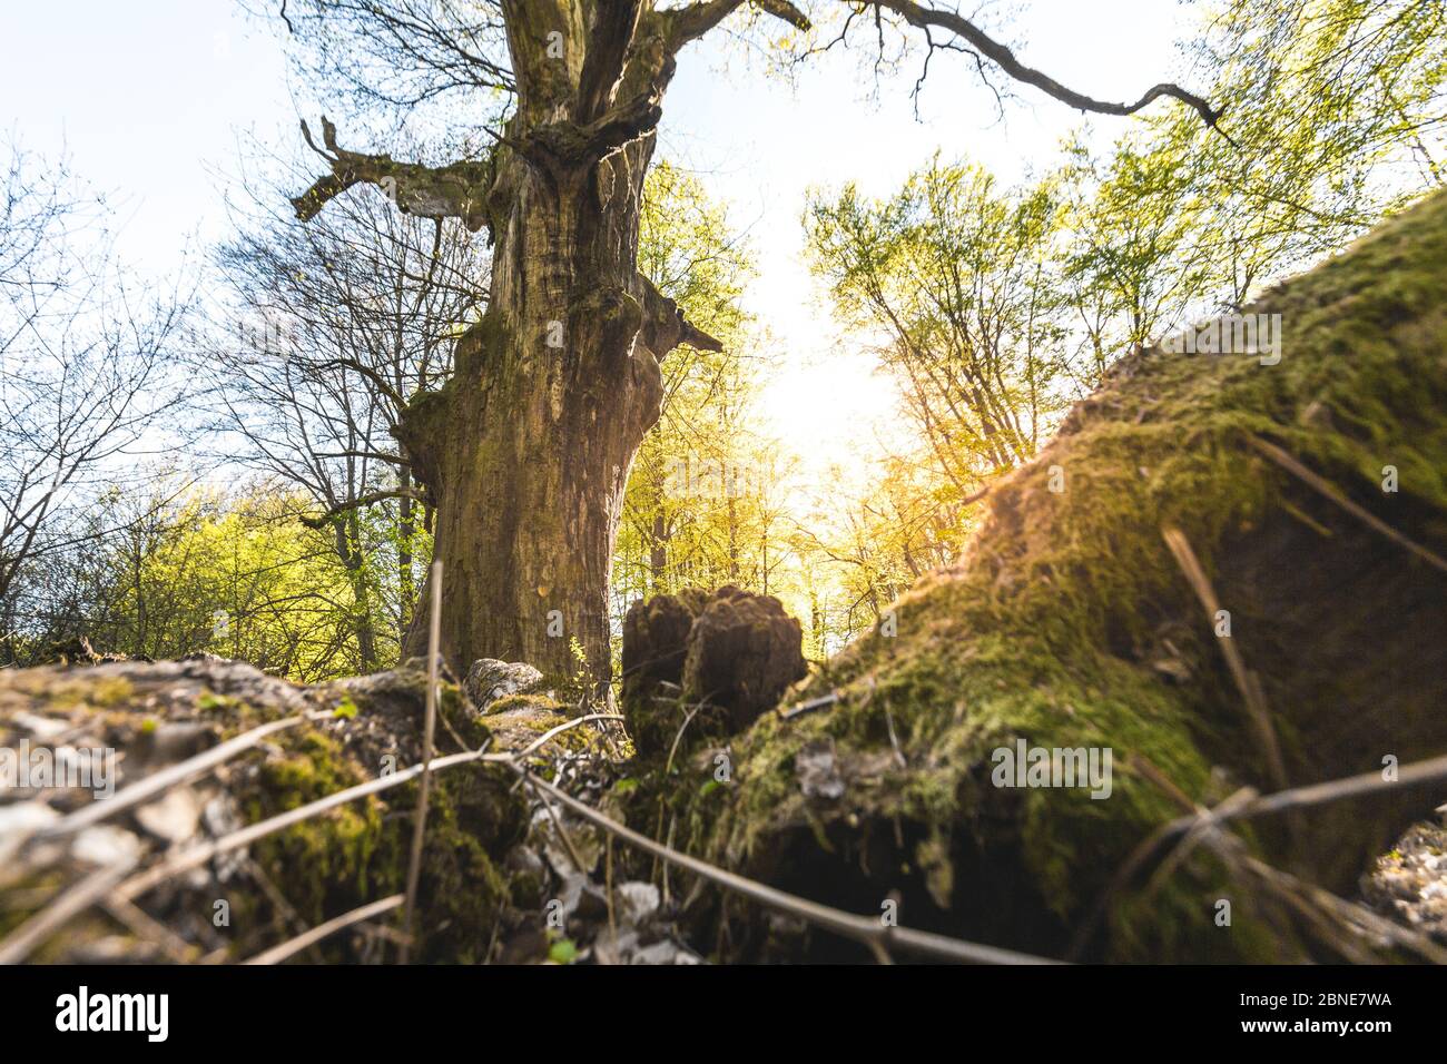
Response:
[[[97,864],[142,863],[214,840],[421,760],[425,669],[402,667],[302,688],[240,662],[122,662],[0,672],[0,746],[116,751],[107,789],[126,786],[260,724],[317,714],[266,737],[164,802],[142,805],[68,837],[27,831],[96,799],[77,789],[25,790],[0,802],[0,938]],[[438,754],[491,738],[454,683],[441,685]],[[563,719],[532,712],[535,738]],[[493,748],[504,748],[493,737]],[[469,764],[433,777],[414,922],[424,961],[480,961],[511,902],[506,854],[528,809],[502,766]],[[135,899],[100,905],[39,944],[33,960],[245,960],[326,919],[404,889],[417,783],[363,798],[230,851]],[[337,935],[302,960],[391,960],[382,935]]]

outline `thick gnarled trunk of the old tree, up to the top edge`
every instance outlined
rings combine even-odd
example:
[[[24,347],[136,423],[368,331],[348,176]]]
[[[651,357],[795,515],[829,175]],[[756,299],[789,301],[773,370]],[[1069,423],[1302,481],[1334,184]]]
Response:
[[[519,103],[486,203],[489,308],[398,434],[437,505],[444,657],[582,666],[602,683],[609,567],[628,469],[658,418],[658,362],[710,342],[637,266],[671,55],[635,25],[637,4],[583,7],[593,25],[566,33],[553,30],[572,25],[570,4],[509,9]],[[425,617],[404,653],[425,653]]]

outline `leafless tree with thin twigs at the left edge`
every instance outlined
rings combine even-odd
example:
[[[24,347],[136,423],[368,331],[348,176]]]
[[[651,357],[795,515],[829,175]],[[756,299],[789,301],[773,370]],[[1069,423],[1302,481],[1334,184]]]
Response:
[[[0,609],[38,559],[104,530],[77,515],[165,446],[188,298],[136,292],[96,197],[13,149],[0,217]],[[0,618],[12,628],[14,618]]]

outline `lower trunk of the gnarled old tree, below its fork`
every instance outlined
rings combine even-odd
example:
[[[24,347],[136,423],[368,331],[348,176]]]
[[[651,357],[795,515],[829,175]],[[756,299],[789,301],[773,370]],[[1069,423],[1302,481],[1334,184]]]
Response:
[[[640,342],[629,284],[650,149],[599,164],[611,203],[559,195],[527,164],[509,165],[517,193],[498,233],[493,308],[459,343],[453,382],[408,417],[437,501],[443,650],[454,663],[486,651],[566,672],[576,640],[589,670],[606,675],[618,514],[663,395],[663,352]],[[423,650],[425,615],[410,650]]]

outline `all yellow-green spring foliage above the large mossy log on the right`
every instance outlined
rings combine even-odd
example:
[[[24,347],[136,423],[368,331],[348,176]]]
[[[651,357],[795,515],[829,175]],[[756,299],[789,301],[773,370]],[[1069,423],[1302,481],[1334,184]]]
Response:
[[[1443,184],[1447,13],[1411,0],[1268,0],[1205,13],[1192,85],[1221,132],[1158,107],[1104,156],[1003,188],[938,156],[893,195],[816,191],[805,217],[838,314],[897,381],[919,446],[812,515],[848,636],[954,563],[967,499],[1029,460],[1126,352],[1340,249]],[[1224,135],[1223,135],[1224,133]],[[823,628],[828,625],[815,625]]]

